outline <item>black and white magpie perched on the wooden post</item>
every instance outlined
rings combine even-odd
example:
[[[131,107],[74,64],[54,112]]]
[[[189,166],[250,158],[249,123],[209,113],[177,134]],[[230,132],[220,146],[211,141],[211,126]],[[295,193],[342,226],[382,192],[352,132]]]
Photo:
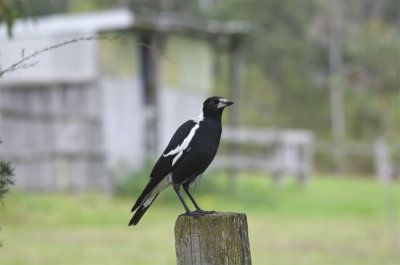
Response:
[[[150,181],[132,208],[134,215],[129,225],[136,225],[158,194],[172,185],[188,215],[203,215],[203,211],[189,192],[213,161],[221,139],[222,111],[233,102],[221,97],[210,97],[203,103],[198,117],[182,124],[172,136],[167,148],[158,159],[150,174]],[[196,211],[189,210],[180,193],[187,193]]]

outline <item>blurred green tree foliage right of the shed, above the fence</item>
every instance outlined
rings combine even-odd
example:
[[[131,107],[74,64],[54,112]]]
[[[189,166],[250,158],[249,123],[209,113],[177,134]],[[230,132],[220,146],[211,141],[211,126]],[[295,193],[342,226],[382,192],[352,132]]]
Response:
[[[394,10],[400,4],[366,2],[343,1],[347,136],[357,140],[393,135],[399,121]],[[255,27],[246,43],[243,106],[254,108],[243,109],[245,124],[302,127],[330,137],[329,8],[329,1],[310,0],[220,1],[210,9],[214,18],[245,19]]]

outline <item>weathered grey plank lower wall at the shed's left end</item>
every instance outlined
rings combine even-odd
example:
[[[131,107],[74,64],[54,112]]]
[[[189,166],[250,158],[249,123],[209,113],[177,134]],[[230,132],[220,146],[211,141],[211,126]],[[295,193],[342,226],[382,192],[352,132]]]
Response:
[[[108,191],[95,83],[0,90],[0,158],[17,186],[39,191]]]

